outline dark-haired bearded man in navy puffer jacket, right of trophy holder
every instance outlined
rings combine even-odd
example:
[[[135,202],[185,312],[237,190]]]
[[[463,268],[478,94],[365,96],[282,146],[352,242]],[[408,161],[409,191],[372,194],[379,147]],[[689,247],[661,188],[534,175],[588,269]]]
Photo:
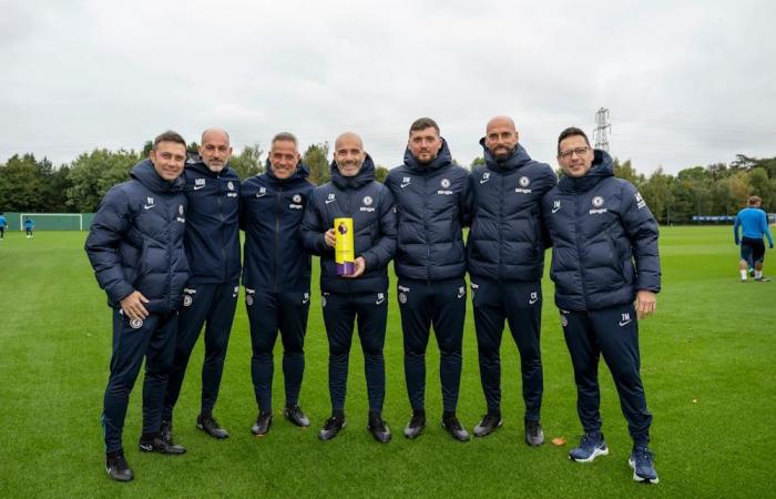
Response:
[[[396,198],[399,234],[396,274],[405,343],[405,376],[412,417],[405,428],[415,438],[426,427],[426,347],[431,326],[440,350],[442,426],[467,441],[456,408],[461,383],[466,319],[466,252],[472,189],[469,172],[452,163],[439,125],[430,118],[409,130],[405,162],[386,179]]]

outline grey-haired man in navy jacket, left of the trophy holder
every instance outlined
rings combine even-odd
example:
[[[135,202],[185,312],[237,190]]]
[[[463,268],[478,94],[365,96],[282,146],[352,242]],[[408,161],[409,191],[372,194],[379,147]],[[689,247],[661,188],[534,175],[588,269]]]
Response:
[[[305,370],[305,332],[310,302],[310,255],[299,227],[315,186],[307,181],[296,136],[278,133],[272,140],[267,171],[241,189],[241,225],[245,231],[243,285],[251,323],[251,374],[258,416],[252,431],[264,436],[273,422],[273,349],[278,330],[283,342],[286,404],[283,415],[307,427],[299,407]]]

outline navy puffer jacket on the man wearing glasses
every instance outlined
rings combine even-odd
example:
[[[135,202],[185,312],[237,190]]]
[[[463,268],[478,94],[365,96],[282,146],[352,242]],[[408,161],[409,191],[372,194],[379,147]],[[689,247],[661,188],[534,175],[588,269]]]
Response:
[[[555,304],[595,310],[660,292],[657,223],[636,189],[613,176],[612,159],[595,150],[584,176],[564,176],[542,200],[552,238]]]

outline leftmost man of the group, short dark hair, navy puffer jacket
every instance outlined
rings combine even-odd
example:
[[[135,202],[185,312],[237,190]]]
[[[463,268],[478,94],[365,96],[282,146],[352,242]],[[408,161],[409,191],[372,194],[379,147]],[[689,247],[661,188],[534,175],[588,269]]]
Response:
[[[180,177],[186,142],[175,132],[154,140],[149,159],[131,180],[113,186],[100,203],[85,251],[113,308],[113,354],[103,405],[105,469],[119,481],[134,477],[124,458],[122,430],[130,393],[145,358],[143,435],[140,450],[183,454],[162,438],[160,426],[173,361],[177,309],[188,265],[183,247],[186,196]]]

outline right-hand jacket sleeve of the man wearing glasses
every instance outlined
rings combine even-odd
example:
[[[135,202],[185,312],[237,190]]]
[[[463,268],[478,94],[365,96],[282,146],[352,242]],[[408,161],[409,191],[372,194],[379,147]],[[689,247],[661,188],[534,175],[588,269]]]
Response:
[[[654,293],[661,288],[657,222],[636,187],[623,183],[621,218],[633,247],[636,265],[636,289]]]

